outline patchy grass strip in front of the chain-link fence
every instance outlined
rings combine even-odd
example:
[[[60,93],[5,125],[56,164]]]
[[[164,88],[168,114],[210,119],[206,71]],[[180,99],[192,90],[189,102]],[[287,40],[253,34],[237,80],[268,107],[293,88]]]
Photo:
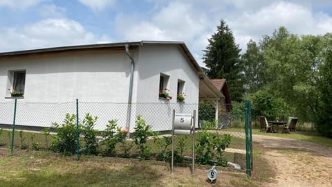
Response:
[[[0,186],[257,186],[243,172],[218,168],[210,184],[210,166],[174,168],[160,161],[138,161],[110,157],[63,157],[50,152],[22,151],[14,156],[0,150]],[[263,161],[264,165],[264,161]]]

